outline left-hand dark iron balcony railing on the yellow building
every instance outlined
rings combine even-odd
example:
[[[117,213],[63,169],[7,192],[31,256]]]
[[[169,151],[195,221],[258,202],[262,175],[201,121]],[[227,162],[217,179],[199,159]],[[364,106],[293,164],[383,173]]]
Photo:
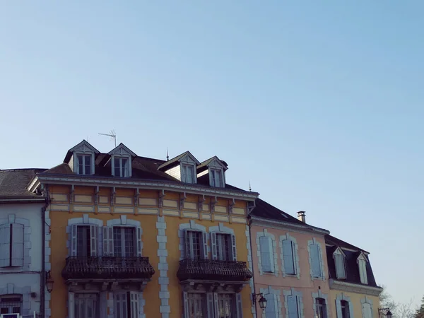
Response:
[[[68,257],[65,279],[150,279],[155,270],[148,257]]]

